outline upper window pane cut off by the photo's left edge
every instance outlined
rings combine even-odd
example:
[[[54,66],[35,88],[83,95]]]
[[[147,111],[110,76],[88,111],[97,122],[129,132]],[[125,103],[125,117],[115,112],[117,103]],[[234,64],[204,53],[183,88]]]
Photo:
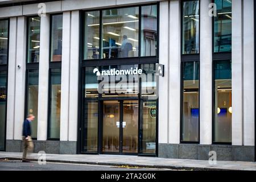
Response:
[[[0,64],[7,64],[8,20],[0,20]]]

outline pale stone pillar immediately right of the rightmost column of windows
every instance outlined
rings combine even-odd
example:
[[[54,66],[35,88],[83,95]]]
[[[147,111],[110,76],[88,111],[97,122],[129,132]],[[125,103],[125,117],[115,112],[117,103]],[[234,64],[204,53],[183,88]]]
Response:
[[[232,145],[242,145],[242,1],[232,1]]]

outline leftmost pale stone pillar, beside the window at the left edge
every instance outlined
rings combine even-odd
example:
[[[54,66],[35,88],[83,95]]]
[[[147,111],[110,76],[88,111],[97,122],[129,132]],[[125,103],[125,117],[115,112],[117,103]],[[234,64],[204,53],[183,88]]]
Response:
[[[6,139],[14,139],[17,18],[10,18]]]

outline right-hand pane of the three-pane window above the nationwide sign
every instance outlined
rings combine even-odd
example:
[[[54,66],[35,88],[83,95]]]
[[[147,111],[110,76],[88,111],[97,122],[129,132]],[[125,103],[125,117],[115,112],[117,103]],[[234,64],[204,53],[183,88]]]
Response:
[[[141,7],[141,56],[156,56],[157,6]]]

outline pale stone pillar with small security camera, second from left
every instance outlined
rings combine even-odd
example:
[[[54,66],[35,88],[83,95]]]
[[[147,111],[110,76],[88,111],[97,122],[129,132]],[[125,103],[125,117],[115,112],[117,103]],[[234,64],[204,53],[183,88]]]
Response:
[[[19,16],[17,22],[16,65],[15,65],[15,106],[14,106],[14,139],[22,139],[24,120],[25,86],[26,86],[26,17]],[[12,25],[13,26],[13,25]],[[20,65],[20,68],[17,65]]]

